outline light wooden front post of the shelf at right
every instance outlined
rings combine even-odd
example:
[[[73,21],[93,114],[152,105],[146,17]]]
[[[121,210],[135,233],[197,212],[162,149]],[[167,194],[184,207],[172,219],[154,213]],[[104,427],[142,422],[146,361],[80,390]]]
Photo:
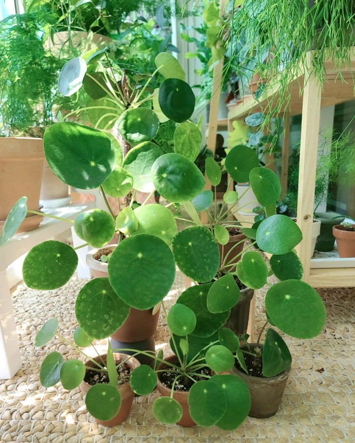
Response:
[[[313,211],[315,201],[316,163],[321,104],[321,88],[312,70],[312,53],[307,54],[305,86],[303,91],[301,147],[299,155],[297,224],[302,231],[303,239],[296,250],[300,258],[304,275],[308,281],[311,266],[311,242]],[[308,74],[310,73],[311,74]],[[306,78],[306,75],[309,75]]]

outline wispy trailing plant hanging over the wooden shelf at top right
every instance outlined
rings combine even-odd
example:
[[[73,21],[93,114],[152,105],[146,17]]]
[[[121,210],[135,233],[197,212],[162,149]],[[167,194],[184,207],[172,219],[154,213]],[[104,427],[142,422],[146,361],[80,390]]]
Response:
[[[269,89],[262,88],[259,99],[268,99],[265,125],[270,118],[288,109],[291,98],[289,82],[305,74],[304,85],[314,72],[323,87],[325,61],[331,59],[335,71],[339,68],[351,70],[352,48],[355,46],[354,3],[349,0],[245,0],[235,10],[232,21],[230,42],[232,53],[249,58],[250,78],[254,73],[268,81],[272,78],[274,98],[268,98]],[[233,42],[235,35],[243,35],[244,44]],[[307,63],[307,53],[313,50],[312,65]],[[269,54],[264,57],[250,57],[249,54]],[[228,68],[226,68],[228,69]],[[277,75],[276,75],[277,74]],[[341,73],[339,76],[342,77]],[[298,85],[298,83],[297,83]],[[300,90],[304,85],[299,85]],[[297,86],[298,87],[298,86]]]

